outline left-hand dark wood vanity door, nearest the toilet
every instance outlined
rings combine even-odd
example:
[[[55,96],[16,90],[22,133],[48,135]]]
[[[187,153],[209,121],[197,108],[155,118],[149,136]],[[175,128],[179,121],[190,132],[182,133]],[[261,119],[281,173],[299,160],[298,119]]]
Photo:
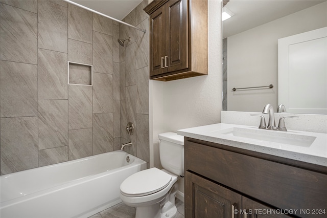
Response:
[[[185,217],[241,217],[242,196],[189,171],[185,172]]]

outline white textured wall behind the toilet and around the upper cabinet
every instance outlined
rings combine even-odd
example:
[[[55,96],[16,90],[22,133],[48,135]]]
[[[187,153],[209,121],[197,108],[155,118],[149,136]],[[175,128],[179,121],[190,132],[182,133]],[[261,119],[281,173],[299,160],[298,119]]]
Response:
[[[160,167],[159,133],[176,132],[181,128],[220,122],[222,110],[221,0],[208,1],[208,18],[208,75],[169,82],[150,81],[151,167]],[[180,186],[183,190],[182,180]]]

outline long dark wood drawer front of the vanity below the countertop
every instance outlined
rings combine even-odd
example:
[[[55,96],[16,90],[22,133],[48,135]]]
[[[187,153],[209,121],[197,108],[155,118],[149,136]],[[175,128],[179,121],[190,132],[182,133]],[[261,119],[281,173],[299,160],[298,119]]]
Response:
[[[327,210],[327,175],[323,173],[191,141],[185,141],[184,151],[185,170],[267,204],[281,209]]]

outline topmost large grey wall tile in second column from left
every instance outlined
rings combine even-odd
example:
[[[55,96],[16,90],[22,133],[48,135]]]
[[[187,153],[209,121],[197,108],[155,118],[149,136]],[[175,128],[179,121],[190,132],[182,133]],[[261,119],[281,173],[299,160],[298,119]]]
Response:
[[[39,1],[38,47],[67,53],[67,8]]]

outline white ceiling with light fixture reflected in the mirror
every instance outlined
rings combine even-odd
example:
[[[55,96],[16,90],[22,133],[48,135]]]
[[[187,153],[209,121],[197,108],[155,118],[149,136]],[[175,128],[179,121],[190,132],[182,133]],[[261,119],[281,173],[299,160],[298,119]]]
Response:
[[[230,0],[225,6],[235,15],[223,21],[223,38],[266,24],[325,1]]]

